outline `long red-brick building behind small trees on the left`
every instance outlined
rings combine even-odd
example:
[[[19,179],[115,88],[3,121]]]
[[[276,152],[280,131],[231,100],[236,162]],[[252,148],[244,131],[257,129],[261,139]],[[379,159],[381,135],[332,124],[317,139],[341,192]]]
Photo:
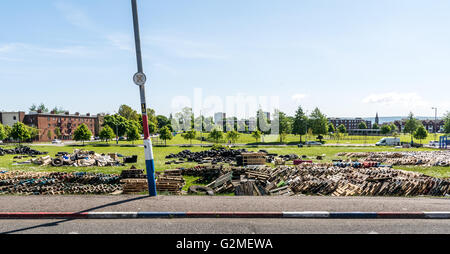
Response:
[[[32,112],[25,115],[23,123],[39,129],[39,137],[35,141],[48,142],[53,139],[72,140],[74,131],[82,124],[86,124],[92,135],[98,136],[102,124],[99,119],[102,118],[91,116],[89,113],[71,115],[69,112],[64,114]],[[56,127],[61,131],[59,137],[55,134]]]

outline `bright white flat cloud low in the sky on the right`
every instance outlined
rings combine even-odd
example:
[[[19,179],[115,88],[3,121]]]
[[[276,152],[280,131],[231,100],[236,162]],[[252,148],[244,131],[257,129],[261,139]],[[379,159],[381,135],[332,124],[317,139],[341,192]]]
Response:
[[[363,99],[364,103],[381,104],[386,106],[403,106],[403,107],[424,107],[429,102],[417,93],[382,93],[371,94]]]

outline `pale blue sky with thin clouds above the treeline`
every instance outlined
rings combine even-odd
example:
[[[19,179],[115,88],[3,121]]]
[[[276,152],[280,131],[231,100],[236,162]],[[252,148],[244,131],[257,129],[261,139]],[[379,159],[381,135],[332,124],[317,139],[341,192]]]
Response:
[[[450,111],[448,0],[138,6],[147,103],[157,114],[183,106],[238,117],[252,107],[293,115],[299,105],[330,117]],[[0,14],[0,111],[140,109],[129,0],[2,1]],[[228,103],[241,97],[250,110]]]

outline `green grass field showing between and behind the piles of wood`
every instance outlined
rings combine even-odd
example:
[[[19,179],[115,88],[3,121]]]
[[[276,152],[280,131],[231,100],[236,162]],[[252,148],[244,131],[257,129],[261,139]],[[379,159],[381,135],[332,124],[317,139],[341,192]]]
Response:
[[[8,148],[8,147],[3,147]],[[74,149],[82,148],[89,151],[95,151],[97,153],[119,153],[124,156],[138,155],[138,163],[135,164],[137,168],[145,168],[145,159],[144,159],[144,149],[142,147],[118,147],[118,146],[109,146],[109,147],[98,147],[98,146],[85,146],[85,147],[76,147],[76,146],[64,146],[64,147],[55,147],[55,146],[33,146],[33,149],[48,152],[50,156],[54,156],[57,152],[73,152]],[[306,155],[308,157],[316,157],[317,155],[325,155],[325,162],[329,162],[333,159],[342,159],[337,157],[336,154],[339,152],[378,152],[378,151],[420,151],[420,150],[428,150],[426,148],[421,149],[395,149],[395,148],[387,148],[387,147],[304,147],[297,148],[295,146],[288,147],[264,147],[258,148],[253,146],[246,147],[250,151],[258,151],[260,149],[267,150],[269,153],[277,153],[277,154],[297,154],[299,156]],[[189,149],[191,151],[202,151],[207,150],[209,148],[201,148],[201,147],[155,147],[154,148],[154,156],[155,156],[155,167],[157,171],[163,171],[165,169],[173,169],[176,167],[192,167],[195,166],[195,163],[184,163],[179,165],[166,165],[165,157],[170,153],[178,153],[185,149]],[[127,169],[131,167],[131,164],[128,164],[123,167],[51,167],[51,166],[37,166],[37,165],[13,165],[16,161],[25,161],[27,159],[22,160],[14,160],[14,155],[6,155],[0,157],[0,170],[24,170],[24,171],[47,171],[47,172],[96,172],[96,173],[107,173],[107,174],[120,174],[123,169]],[[450,177],[450,168],[445,167],[397,167],[399,169],[410,170],[421,172],[426,175],[446,178]],[[194,181],[195,179],[187,179],[188,181]]]

